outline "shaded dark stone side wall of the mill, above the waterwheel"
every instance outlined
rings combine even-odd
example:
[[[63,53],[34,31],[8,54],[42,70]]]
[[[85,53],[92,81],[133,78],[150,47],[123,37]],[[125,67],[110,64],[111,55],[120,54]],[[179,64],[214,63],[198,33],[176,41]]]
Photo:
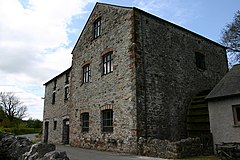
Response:
[[[225,49],[179,26],[135,9],[139,137],[186,138],[191,97],[212,89],[227,72]],[[205,55],[206,70],[195,52]]]

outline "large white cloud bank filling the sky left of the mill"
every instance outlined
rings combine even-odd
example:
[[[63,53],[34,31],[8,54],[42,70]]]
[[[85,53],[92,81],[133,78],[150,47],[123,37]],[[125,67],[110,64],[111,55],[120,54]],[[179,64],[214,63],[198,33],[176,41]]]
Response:
[[[71,66],[73,19],[94,2],[0,1],[0,91],[20,90],[29,112],[42,117],[42,84]],[[29,92],[31,87],[38,90]]]

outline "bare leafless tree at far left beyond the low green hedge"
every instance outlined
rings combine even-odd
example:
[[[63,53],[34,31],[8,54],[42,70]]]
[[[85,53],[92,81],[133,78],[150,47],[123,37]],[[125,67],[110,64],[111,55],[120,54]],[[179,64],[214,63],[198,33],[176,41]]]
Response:
[[[12,92],[0,92],[0,108],[10,121],[27,116],[27,107]]]

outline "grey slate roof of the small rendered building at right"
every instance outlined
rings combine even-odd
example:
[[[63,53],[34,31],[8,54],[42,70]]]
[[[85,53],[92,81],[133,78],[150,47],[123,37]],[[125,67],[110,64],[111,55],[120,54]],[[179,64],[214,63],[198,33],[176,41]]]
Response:
[[[233,66],[207,95],[206,99],[209,100],[236,95],[240,96],[240,64]]]

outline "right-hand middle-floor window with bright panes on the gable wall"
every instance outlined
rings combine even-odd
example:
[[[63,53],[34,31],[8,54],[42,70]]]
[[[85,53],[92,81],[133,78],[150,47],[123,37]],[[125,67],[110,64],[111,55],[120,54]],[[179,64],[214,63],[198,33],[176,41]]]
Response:
[[[112,52],[109,52],[102,57],[103,61],[103,75],[111,73],[113,71],[113,64],[112,64]]]

